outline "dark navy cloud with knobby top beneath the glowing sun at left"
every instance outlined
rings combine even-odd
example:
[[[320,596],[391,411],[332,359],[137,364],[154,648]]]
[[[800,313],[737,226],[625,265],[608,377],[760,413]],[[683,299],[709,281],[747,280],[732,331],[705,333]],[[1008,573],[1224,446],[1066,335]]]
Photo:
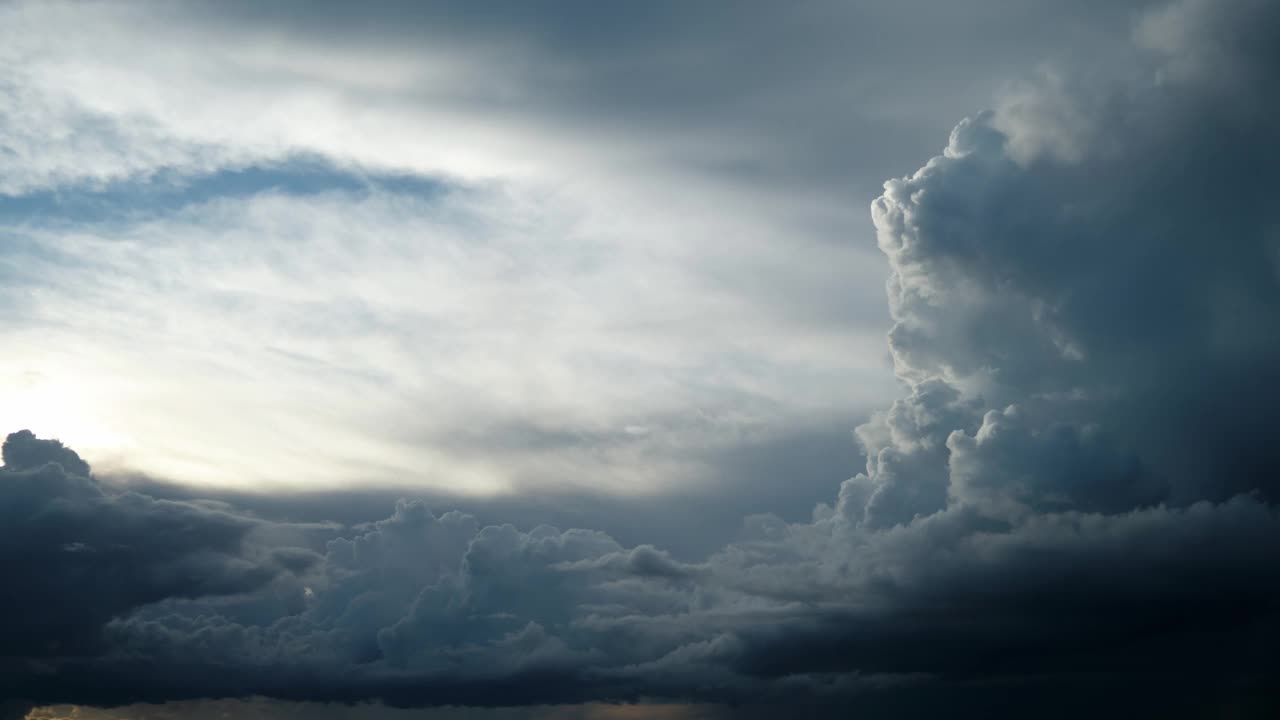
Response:
[[[13,433],[4,460],[0,623],[10,660],[95,656],[111,618],[165,598],[253,592],[311,560],[253,547],[257,523],[227,507],[108,493],[58,441]]]

